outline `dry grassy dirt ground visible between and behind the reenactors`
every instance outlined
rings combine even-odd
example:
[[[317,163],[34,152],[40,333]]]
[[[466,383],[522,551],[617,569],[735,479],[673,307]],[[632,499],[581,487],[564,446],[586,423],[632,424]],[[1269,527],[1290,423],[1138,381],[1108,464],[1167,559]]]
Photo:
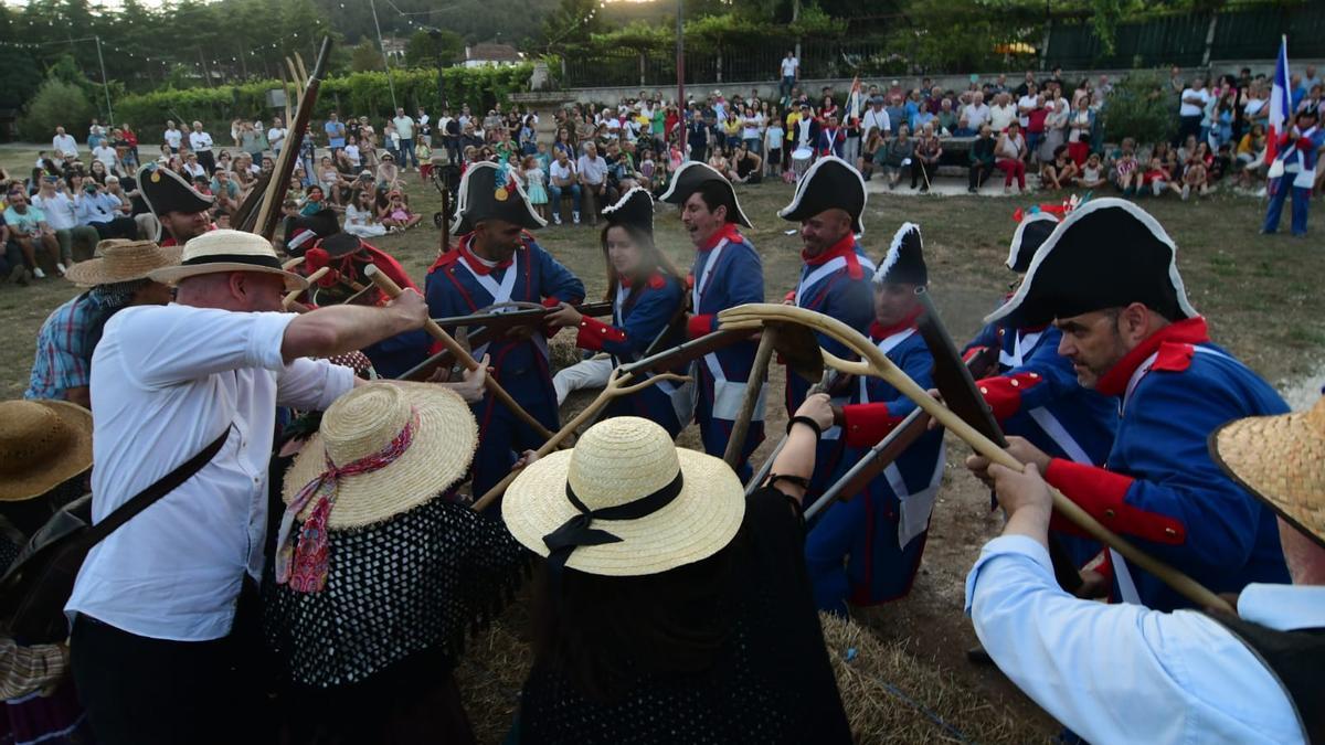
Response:
[[[16,167],[26,166],[30,156],[26,150],[0,150],[0,164],[13,172]],[[25,168],[19,168],[19,172],[25,172]],[[431,227],[432,212],[440,203],[431,186],[421,184],[413,174],[409,179],[412,204],[428,219],[403,236],[382,239],[378,245],[394,253],[421,284],[440,248],[439,232]],[[1056,201],[1065,196],[1064,192],[1020,199],[872,196],[863,243],[878,258],[904,220],[921,225],[935,304],[961,343],[979,327],[980,317],[998,302],[1012,280],[1002,265],[1015,228],[1012,211],[1019,205]],[[800,266],[799,239],[786,235],[784,231],[792,225],[775,215],[790,200],[791,187],[782,183],[747,187],[741,190],[739,198],[755,223],[755,228],[746,233],[763,256],[766,297],[780,300],[794,286]],[[1320,236],[1325,233],[1320,227],[1306,240],[1257,236],[1264,204],[1228,195],[1191,203],[1159,199],[1143,205],[1151,209],[1179,245],[1178,264],[1189,294],[1192,304],[1208,315],[1218,343],[1281,390],[1320,375],[1325,347],[1325,294],[1320,292],[1320,278],[1325,276],[1325,239]],[[659,244],[670,252],[678,265],[688,266],[693,249],[680,229],[674,208],[660,207],[656,220]],[[596,231],[550,227],[538,233],[538,240],[584,278],[591,297],[602,294],[606,277]],[[0,327],[5,330],[4,354],[0,355],[0,396],[23,395],[37,329],[46,314],[74,292],[61,280],[37,281],[32,288],[0,286]],[[555,345],[568,346],[567,337],[568,333],[562,334]],[[770,402],[782,400],[783,384],[783,374],[775,366]],[[588,398],[587,394],[572,398],[563,419]],[[782,406],[771,403],[768,431],[780,432],[784,422]],[[970,623],[962,615],[966,571],[983,542],[998,534],[1002,518],[988,510],[987,492],[961,468],[969,451],[951,441],[951,436],[949,440],[943,490],[934,509],[926,555],[912,594],[882,607],[860,610],[855,616],[880,640],[904,648],[916,665],[949,679],[951,688],[947,695],[965,696],[1003,711],[1015,721],[1011,741],[1044,740],[1059,726],[996,669],[974,667],[965,659],[965,651],[975,642]],[[694,427],[682,433],[680,443],[697,447]],[[771,445],[771,441],[765,443],[754,461],[761,463]],[[482,693],[474,695],[474,701],[480,701],[482,708],[474,711],[472,705],[470,715],[485,740],[500,740],[510,721],[509,712],[517,695],[513,685],[518,685],[518,675],[511,676],[510,669],[525,660],[525,650],[511,647],[519,644],[523,632],[519,628],[521,616],[521,608],[513,610],[493,631],[476,640],[470,647],[476,660],[461,671],[464,683],[484,687]],[[906,692],[906,680],[889,683]],[[950,724],[962,728],[961,721]],[[980,740],[979,733],[969,734],[971,740]],[[949,737],[934,728],[933,740]]]

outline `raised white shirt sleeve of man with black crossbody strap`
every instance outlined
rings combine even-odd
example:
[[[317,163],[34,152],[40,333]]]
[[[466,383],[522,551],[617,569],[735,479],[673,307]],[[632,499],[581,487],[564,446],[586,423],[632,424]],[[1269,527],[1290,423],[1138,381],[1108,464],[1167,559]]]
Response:
[[[281,343],[294,318],[178,304],[127,308],[106,323],[106,335],[119,337],[125,374],[152,388],[244,367],[281,372]]]

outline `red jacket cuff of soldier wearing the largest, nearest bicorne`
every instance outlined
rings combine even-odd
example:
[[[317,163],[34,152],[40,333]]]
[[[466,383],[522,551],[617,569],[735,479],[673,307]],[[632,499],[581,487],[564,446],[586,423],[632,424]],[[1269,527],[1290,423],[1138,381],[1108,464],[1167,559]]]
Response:
[[[1130,476],[1056,457],[1049,461],[1044,480],[1114,533],[1170,546],[1187,540],[1187,529],[1181,521],[1126,502],[1134,481]]]

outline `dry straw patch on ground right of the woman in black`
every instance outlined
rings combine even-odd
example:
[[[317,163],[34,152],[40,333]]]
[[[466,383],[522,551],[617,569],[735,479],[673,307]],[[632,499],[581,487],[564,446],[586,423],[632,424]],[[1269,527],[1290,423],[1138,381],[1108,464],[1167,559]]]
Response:
[[[856,742],[1044,741],[1041,732],[1022,726],[1012,712],[963,688],[905,644],[886,644],[835,615],[820,614],[819,620]]]

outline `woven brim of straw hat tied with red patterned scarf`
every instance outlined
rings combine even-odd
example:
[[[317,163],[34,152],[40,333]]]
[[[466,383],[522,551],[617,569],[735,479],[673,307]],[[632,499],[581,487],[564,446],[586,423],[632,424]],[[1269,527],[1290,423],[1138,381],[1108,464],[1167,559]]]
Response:
[[[469,471],[478,447],[478,424],[469,404],[447,388],[429,383],[396,383],[419,411],[419,428],[409,448],[391,464],[341,479],[335,505],[327,517],[331,530],[382,522],[436,497]],[[290,504],[307,483],[326,468],[322,435],[314,433],[285,472],[281,498]],[[303,510],[305,520],[313,504]]]

